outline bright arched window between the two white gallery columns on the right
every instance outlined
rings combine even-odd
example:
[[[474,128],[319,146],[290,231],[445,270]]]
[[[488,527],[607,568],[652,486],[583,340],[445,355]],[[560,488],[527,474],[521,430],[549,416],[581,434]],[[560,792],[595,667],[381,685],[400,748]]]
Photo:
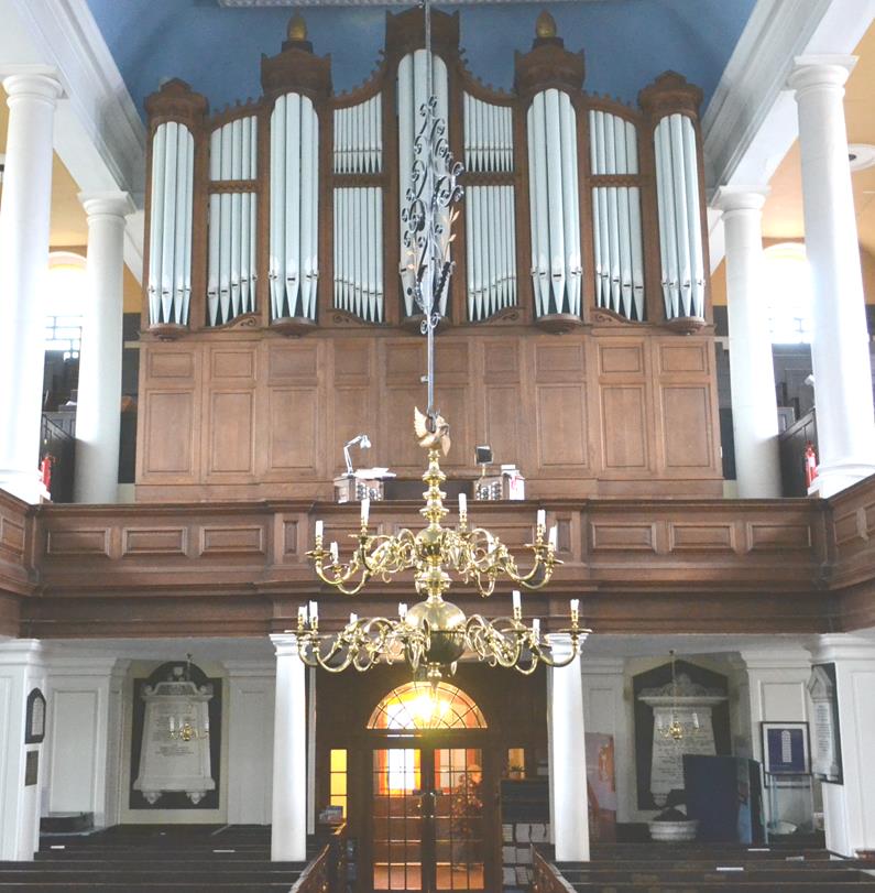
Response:
[[[765,249],[763,255],[772,344],[810,342],[813,290],[805,246],[775,244]]]

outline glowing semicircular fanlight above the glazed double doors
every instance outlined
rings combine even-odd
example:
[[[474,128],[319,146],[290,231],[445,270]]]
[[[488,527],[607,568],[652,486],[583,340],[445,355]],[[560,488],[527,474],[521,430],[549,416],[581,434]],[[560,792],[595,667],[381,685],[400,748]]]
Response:
[[[407,683],[383,698],[368,720],[369,729],[485,729],[481,709],[460,688],[438,683]]]

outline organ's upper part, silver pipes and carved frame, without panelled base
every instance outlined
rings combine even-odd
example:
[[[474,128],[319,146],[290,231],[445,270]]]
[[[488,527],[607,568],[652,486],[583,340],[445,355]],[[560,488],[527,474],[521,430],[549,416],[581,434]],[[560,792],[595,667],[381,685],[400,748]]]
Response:
[[[430,76],[466,166],[449,322],[704,325],[698,89],[664,75],[639,110],[590,96],[582,54],[547,23],[504,92],[468,72],[457,18],[435,14],[430,62],[415,20],[387,17],[384,61],[347,95],[302,30],[263,59],[255,102],[210,119],[181,81],[150,97],[146,323],[167,337],[415,323],[401,220]]]

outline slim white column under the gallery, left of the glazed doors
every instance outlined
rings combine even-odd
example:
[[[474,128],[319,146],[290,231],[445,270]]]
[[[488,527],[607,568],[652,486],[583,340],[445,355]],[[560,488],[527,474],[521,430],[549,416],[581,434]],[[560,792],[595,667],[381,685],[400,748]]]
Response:
[[[271,859],[307,858],[307,688],[297,639],[271,636],[276,649]]]

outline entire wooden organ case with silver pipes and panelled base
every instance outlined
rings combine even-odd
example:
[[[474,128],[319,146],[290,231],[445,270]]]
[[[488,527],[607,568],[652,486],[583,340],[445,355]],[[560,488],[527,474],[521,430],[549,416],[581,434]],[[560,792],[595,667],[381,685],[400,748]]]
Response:
[[[437,402],[447,468],[473,447],[529,498],[722,492],[700,91],[667,73],[639,108],[582,90],[542,17],[512,92],[433,13],[438,110],[463,161]],[[264,95],[210,115],[172,80],[146,100],[146,276],[138,499],[330,499],[343,443],[418,477],[425,346],[402,240],[420,10],[335,94],[300,20],[262,57]]]

